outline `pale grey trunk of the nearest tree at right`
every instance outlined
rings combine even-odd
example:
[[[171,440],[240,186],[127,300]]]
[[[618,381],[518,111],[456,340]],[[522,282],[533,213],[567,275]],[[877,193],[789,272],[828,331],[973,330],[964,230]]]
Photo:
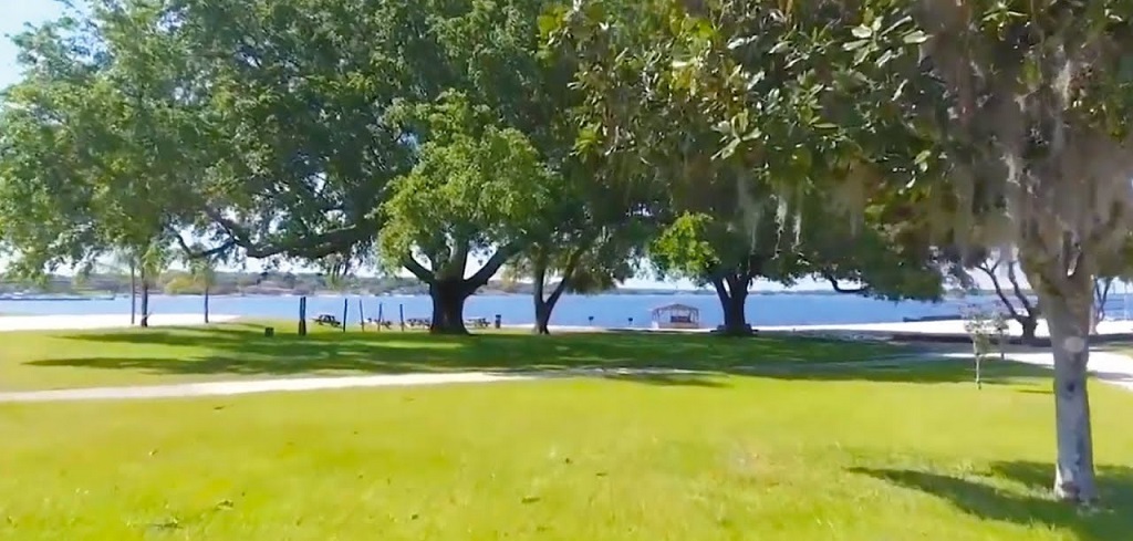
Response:
[[[1097,499],[1090,398],[1087,392],[1092,285],[1088,280],[1071,276],[1060,294],[1039,287],[1040,306],[1050,328],[1050,349],[1055,358],[1058,458],[1055,464],[1054,490],[1059,499],[1084,505]]]

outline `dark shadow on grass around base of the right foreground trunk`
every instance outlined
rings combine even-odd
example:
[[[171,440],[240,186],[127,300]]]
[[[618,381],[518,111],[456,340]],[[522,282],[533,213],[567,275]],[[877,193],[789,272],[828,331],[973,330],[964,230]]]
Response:
[[[949,501],[983,519],[1021,525],[1043,524],[1074,532],[1083,541],[1114,541],[1133,536],[1133,469],[1098,469],[1101,505],[1083,512],[1050,496],[1054,466],[1037,462],[997,462],[980,475],[952,476],[918,470],[852,469],[851,472]],[[1013,487],[993,480],[1008,481]]]

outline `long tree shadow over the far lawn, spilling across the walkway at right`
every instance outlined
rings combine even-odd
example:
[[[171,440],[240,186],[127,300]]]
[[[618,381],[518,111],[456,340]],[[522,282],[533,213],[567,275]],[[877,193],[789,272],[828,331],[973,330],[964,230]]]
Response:
[[[704,334],[570,333],[554,336],[486,333],[435,336],[415,332],[337,332],[306,336],[263,334],[255,324],[215,327],[84,332],[66,336],[90,343],[88,355],[25,362],[32,367],[118,369],[146,373],[248,377],[407,373],[445,371],[556,371],[579,368],[670,368],[691,375],[616,375],[656,385],[719,386],[722,375],[784,380],[863,380],[946,384],[973,380],[970,362],[908,362],[914,351],[877,343],[768,337],[722,338]],[[107,351],[108,349],[112,351]],[[904,355],[891,366],[858,361]],[[1041,368],[993,362],[985,384],[1010,384],[1046,375]]]

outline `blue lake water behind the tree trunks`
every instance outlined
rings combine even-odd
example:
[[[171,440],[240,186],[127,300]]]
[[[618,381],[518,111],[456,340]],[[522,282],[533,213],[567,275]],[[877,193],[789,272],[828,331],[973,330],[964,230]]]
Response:
[[[358,297],[350,297],[349,320],[358,319]],[[398,320],[401,307],[404,316],[428,317],[428,297],[366,297],[361,298],[366,317],[377,317],[381,306],[385,319]],[[320,312],[342,314],[342,297],[310,297],[307,300],[308,317]],[[956,315],[971,302],[990,302],[988,298],[968,298],[964,301],[949,300],[940,303],[888,302],[855,295],[829,294],[753,294],[748,299],[748,321],[752,325],[836,325],[892,323],[903,318]],[[152,314],[191,314],[201,311],[199,297],[153,295]],[[715,327],[723,323],[723,315],[715,295],[665,294],[665,295],[564,295],[552,318],[554,325],[594,325],[624,327],[629,318],[632,326],[647,327],[650,310],[658,306],[681,303],[700,309],[701,324]],[[1124,299],[1111,295],[1108,304],[1113,318],[1121,317]],[[293,318],[298,314],[297,297],[214,297],[213,314],[225,314],[255,318]],[[128,297],[114,300],[92,301],[0,301],[0,314],[5,315],[82,315],[82,314],[129,314]],[[528,324],[535,318],[531,298],[528,295],[477,295],[468,300],[467,317],[492,318],[499,314],[504,324]]]

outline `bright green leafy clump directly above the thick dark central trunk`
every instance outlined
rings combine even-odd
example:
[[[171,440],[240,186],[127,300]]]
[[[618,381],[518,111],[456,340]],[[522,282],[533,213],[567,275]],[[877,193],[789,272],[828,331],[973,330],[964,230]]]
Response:
[[[382,207],[382,254],[398,263],[420,255],[436,274],[462,278],[469,254],[529,240],[561,177],[522,132],[461,95],[419,106],[416,118],[425,141]]]

